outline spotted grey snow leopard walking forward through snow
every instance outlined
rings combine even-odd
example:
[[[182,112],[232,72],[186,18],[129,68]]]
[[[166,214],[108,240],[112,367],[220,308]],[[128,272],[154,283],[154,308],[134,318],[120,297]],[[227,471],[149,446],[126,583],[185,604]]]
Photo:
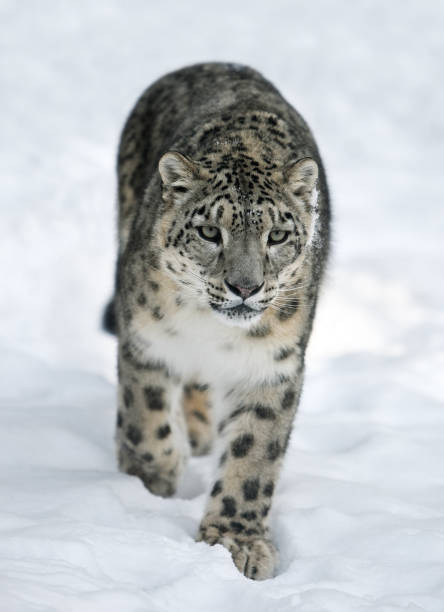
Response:
[[[271,578],[270,508],[329,250],[318,147],[259,72],[205,63],[141,95],[117,170],[105,327],[118,337],[119,467],[171,496],[190,455],[212,450],[196,540]]]

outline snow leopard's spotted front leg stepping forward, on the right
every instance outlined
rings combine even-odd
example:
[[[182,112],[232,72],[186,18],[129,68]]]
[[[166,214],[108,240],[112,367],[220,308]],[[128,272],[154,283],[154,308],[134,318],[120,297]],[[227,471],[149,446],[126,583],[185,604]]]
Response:
[[[300,396],[302,374],[245,393],[234,389],[231,413],[219,425],[224,439],[198,540],[222,544],[249,578],[273,576],[277,552],[268,515]]]

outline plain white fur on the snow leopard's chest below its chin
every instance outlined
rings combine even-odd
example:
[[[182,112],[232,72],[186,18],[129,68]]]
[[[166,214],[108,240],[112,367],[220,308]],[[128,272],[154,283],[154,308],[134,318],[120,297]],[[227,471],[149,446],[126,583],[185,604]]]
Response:
[[[138,328],[135,335],[148,359],[163,361],[184,380],[221,389],[241,382],[260,384],[294,368],[274,359],[277,340],[249,338],[245,329],[226,325],[211,311],[188,306]]]

